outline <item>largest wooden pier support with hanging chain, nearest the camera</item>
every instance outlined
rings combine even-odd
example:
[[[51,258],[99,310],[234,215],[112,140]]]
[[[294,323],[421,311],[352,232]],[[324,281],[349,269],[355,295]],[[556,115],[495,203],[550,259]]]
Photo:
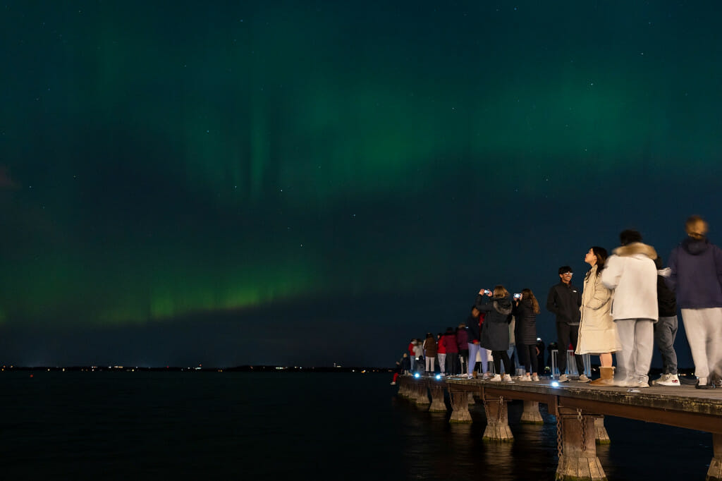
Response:
[[[559,408],[557,443],[560,443],[560,452],[555,480],[606,481],[596,456],[595,417],[581,410]]]

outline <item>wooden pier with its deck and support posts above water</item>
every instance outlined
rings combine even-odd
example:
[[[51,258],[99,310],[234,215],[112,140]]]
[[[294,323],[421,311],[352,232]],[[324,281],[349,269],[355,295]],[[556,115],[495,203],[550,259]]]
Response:
[[[722,389],[701,390],[694,386],[651,386],[628,389],[589,386],[578,382],[500,383],[446,377],[399,376],[399,395],[431,411],[446,410],[444,391],[451,401],[450,423],[471,423],[469,401],[484,403],[487,427],[484,441],[511,442],[508,402],[522,400],[522,423],[541,423],[539,403],[547,404],[557,418],[559,464],[557,480],[606,480],[596,456],[596,443],[609,443],[604,416],[701,430],[713,436],[713,457],[706,480],[722,481]]]

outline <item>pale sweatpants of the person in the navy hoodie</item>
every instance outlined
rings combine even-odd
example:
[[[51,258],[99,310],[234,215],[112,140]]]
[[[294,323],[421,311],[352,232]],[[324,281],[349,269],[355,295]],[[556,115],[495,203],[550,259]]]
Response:
[[[682,309],[682,322],[695,361],[695,376],[720,375],[722,308]]]

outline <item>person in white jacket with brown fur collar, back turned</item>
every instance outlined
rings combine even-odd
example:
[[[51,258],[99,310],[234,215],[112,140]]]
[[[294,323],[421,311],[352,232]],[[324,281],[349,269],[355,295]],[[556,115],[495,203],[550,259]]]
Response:
[[[612,318],[622,350],[617,352],[616,386],[649,387],[648,373],[657,321],[657,252],[636,230],[619,234],[622,246],[606,261],[601,282],[614,290]]]

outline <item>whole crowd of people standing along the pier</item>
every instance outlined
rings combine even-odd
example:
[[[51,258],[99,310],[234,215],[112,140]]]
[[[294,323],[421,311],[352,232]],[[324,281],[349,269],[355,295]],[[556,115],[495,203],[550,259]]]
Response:
[[[695,386],[722,386],[722,250],[708,240],[702,217],[689,217],[685,231],[687,237],[671,251],[667,267],[638,231],[624,230],[611,256],[599,246],[586,252],[590,268],[581,288],[572,283],[571,267],[559,268],[560,282],[551,287],[546,303],[557,328],[557,345],[549,345],[549,352],[557,346],[573,350],[577,376],[562,349],[557,381],[649,387],[656,344],[663,367],[651,384],[679,386],[674,350],[679,307],[695,363]],[[479,290],[464,323],[409,342],[391,384],[399,373],[432,374],[437,365],[441,376],[480,375],[495,382],[540,381],[547,372],[553,376],[536,333],[540,312],[530,289],[513,295],[503,285]],[[599,356],[599,378],[586,376],[583,355]]]

